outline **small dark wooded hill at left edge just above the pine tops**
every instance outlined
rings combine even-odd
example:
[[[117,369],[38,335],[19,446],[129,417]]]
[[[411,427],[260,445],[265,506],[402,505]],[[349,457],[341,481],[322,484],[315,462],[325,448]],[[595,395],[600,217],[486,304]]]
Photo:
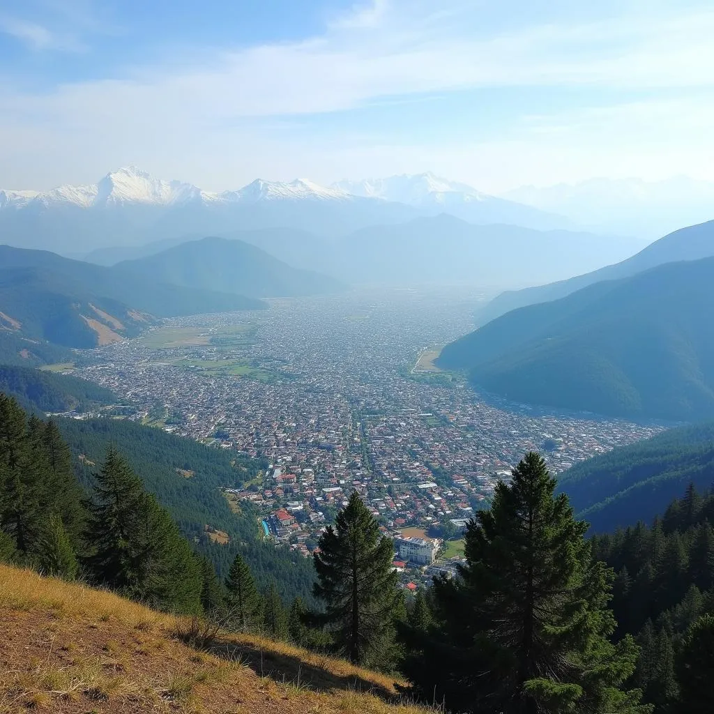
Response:
[[[109,389],[85,379],[8,365],[0,365],[0,392],[14,396],[26,411],[61,412],[116,402]]]

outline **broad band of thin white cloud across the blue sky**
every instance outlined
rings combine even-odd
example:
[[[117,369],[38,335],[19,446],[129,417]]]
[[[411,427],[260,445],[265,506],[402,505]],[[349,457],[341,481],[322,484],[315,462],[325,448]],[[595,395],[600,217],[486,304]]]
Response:
[[[44,176],[56,181],[48,171],[63,171],[59,180],[75,178],[68,169],[91,171],[76,176],[89,180],[135,161],[206,188],[238,186],[257,174],[331,180],[433,169],[490,189],[540,184],[546,176],[581,178],[607,166],[615,174],[637,166],[679,172],[693,161],[693,173],[706,170],[701,157],[710,156],[714,140],[700,118],[709,121],[714,113],[714,10],[629,10],[511,29],[502,23],[491,31],[479,23],[482,10],[463,0],[375,0],[302,42],[228,49],[208,60],[201,54],[193,64],[185,55],[171,57],[161,66],[126,69],[123,79],[68,82],[45,94],[6,83],[0,164],[16,167],[24,156],[27,165],[36,157],[53,164]],[[375,129],[372,136],[343,134],[334,141],[338,114],[329,137],[316,130],[306,138],[302,131],[299,140],[289,124],[275,129],[266,121],[503,86],[589,87],[618,91],[623,99],[602,106],[593,99],[589,109],[537,117],[519,116],[516,108],[498,139],[474,137],[458,146],[438,126],[428,144],[400,146],[385,144]],[[630,92],[642,89],[685,94],[635,101]],[[393,169],[381,168],[387,159]],[[8,180],[0,174],[0,184]]]

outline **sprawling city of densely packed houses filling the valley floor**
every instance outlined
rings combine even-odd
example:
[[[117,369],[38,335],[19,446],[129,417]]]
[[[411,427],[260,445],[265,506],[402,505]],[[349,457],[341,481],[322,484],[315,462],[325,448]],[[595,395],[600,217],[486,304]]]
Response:
[[[262,458],[261,478],[224,495],[251,501],[266,538],[303,555],[358,491],[413,587],[453,570],[464,524],[526,451],[557,474],[661,428],[496,401],[439,371],[439,348],[473,328],[481,299],[453,288],[274,300],[164,321],[74,369],[123,398],[116,416]]]

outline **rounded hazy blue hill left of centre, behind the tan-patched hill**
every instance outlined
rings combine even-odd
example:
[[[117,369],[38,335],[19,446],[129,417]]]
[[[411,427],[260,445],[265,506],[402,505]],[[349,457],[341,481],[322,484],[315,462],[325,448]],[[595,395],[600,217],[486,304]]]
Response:
[[[343,288],[326,275],[292,268],[256,246],[226,238],[188,241],[153,256],[124,261],[112,270],[146,281],[255,298],[315,295]]]

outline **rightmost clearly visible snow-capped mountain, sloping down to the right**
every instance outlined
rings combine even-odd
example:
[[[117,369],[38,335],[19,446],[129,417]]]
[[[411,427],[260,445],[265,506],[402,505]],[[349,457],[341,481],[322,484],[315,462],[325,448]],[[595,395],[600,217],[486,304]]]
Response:
[[[426,174],[401,174],[388,178],[367,178],[362,181],[338,181],[331,188],[353,196],[381,198],[384,201],[406,203],[431,215],[451,213],[471,223],[510,223],[528,228],[569,228],[570,221],[562,216],[533,211],[531,206],[507,201],[482,193],[473,186],[448,178]]]

